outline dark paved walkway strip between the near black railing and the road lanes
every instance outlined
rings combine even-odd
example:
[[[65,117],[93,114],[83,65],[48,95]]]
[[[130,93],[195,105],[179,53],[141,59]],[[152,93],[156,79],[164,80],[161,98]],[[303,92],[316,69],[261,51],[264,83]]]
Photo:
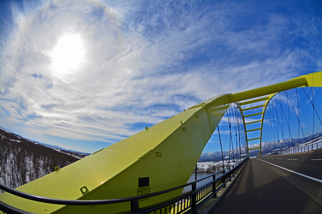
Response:
[[[322,213],[315,201],[251,158],[232,187],[208,214],[218,213]]]

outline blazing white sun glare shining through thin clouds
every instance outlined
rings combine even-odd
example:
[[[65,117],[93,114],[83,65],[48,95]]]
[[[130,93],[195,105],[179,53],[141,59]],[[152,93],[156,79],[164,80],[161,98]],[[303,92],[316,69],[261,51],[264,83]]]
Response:
[[[54,47],[50,56],[53,58],[53,70],[67,73],[81,63],[84,57],[81,37],[77,34],[63,36]]]

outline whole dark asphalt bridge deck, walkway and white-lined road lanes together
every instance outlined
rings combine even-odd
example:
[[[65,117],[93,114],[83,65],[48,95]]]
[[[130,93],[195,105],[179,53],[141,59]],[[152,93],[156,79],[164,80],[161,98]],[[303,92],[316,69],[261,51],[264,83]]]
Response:
[[[297,175],[266,162],[296,171],[300,166],[307,167],[310,162],[313,167],[309,167],[315,178],[322,179],[322,152],[319,154],[308,154],[298,156],[266,156],[251,158],[236,178],[231,188],[223,195],[218,203],[208,212],[214,213],[322,213],[322,183],[312,179]],[[317,157],[320,158],[317,158]],[[279,158],[279,159],[277,159]],[[294,167],[290,161],[300,160],[299,165]],[[285,159],[284,164],[277,163]],[[320,159],[320,160],[312,160]],[[261,161],[264,160],[264,161]],[[317,163],[319,161],[319,163]],[[303,168],[303,167],[302,167]],[[274,171],[273,171],[274,170]],[[313,172],[312,172],[313,170]],[[277,172],[277,173],[276,173]],[[319,176],[319,177],[316,177]],[[304,190],[303,193],[302,191]],[[312,194],[315,202],[312,200]],[[309,197],[308,195],[311,195]]]

